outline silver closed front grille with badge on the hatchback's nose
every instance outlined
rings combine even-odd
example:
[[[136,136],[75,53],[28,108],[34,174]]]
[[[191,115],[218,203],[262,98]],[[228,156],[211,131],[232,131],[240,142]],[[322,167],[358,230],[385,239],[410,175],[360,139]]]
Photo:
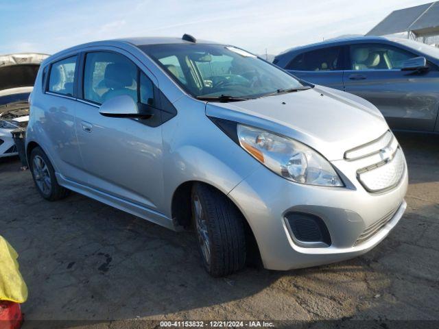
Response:
[[[344,158],[359,163],[357,180],[370,193],[390,190],[399,184],[405,171],[403,151],[390,131],[375,141],[346,151]]]

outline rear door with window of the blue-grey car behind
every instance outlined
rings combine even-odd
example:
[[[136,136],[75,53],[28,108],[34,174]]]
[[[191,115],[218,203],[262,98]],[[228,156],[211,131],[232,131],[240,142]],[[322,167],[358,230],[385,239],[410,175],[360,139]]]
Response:
[[[285,69],[307,82],[343,90],[344,47],[297,53]]]

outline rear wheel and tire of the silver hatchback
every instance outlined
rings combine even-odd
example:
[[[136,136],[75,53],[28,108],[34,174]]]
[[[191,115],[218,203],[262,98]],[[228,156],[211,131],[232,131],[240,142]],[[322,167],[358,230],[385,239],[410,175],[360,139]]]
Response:
[[[70,191],[60,186],[56,181],[54,167],[40,147],[32,149],[29,157],[29,169],[38,193],[46,200],[56,201],[69,195]]]

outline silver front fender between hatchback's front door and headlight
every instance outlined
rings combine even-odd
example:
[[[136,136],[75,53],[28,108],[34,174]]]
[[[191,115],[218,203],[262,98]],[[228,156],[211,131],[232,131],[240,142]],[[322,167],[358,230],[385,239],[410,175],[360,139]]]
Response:
[[[206,117],[204,103],[179,102],[178,115],[163,125],[164,212],[169,217],[172,196],[181,184],[205,182],[227,195],[261,167]]]

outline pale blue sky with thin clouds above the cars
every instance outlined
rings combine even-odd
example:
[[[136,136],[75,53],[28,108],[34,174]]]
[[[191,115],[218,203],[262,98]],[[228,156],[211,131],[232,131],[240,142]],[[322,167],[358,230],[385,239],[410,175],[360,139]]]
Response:
[[[93,40],[188,33],[263,54],[365,34],[420,0],[0,0],[0,54],[56,53]]]

